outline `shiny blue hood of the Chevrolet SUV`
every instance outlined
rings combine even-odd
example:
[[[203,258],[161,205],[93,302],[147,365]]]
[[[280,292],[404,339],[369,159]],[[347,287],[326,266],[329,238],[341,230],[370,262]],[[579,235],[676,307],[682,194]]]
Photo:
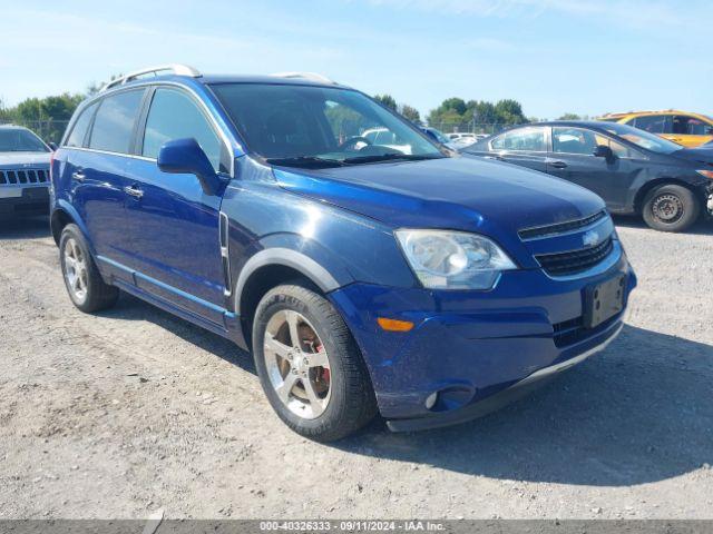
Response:
[[[285,189],[393,228],[498,234],[561,222],[604,208],[593,192],[548,175],[476,157],[331,169],[274,169]],[[512,234],[510,234],[512,235]]]

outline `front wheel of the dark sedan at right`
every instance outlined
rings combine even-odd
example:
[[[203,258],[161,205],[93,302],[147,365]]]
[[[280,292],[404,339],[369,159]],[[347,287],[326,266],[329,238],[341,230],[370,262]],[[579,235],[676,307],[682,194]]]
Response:
[[[655,230],[683,231],[699,219],[701,204],[690,189],[670,184],[646,195],[642,215]]]

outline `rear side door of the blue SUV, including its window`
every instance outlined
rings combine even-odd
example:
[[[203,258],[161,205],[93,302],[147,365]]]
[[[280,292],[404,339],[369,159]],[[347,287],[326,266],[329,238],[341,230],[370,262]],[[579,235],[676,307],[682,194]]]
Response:
[[[144,93],[133,89],[101,99],[77,119],[67,140],[65,179],[100,263],[124,264],[130,247],[125,172]]]

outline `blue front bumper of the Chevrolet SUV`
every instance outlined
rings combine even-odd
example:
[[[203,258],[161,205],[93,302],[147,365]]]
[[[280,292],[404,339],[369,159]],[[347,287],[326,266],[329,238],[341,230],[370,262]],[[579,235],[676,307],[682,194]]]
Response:
[[[602,350],[621,330],[624,312],[586,329],[584,295],[617,274],[626,275],[626,305],[636,277],[623,251],[608,270],[586,278],[522,269],[504,273],[490,291],[352,284],[330,296],[362,350],[381,415],[390,428],[408,431],[485,415]],[[416,326],[384,332],[378,317]]]

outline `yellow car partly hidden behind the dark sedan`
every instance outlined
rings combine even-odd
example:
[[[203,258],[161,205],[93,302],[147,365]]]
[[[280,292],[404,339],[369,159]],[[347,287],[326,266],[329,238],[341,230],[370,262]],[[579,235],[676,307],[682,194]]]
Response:
[[[705,115],[668,109],[608,113],[599,120],[633,126],[656,134],[684,147],[713,141],[713,119]]]

